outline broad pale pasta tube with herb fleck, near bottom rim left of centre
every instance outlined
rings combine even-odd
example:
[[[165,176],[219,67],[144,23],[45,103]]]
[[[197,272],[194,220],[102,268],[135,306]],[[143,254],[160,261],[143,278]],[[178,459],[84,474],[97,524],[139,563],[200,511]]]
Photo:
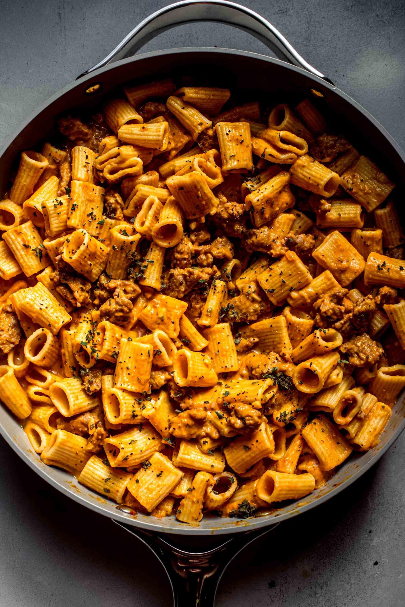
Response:
[[[138,502],[152,510],[171,492],[183,476],[162,453],[153,453],[148,465],[141,467],[128,484],[128,490]]]

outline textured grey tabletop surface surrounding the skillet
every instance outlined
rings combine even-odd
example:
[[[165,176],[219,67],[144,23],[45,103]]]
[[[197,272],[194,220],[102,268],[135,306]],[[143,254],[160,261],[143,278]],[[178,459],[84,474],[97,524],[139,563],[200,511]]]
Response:
[[[164,0],[0,0],[0,143]],[[405,148],[402,0],[249,0],[309,63]],[[145,50],[222,46],[268,54],[243,32],[196,24]],[[405,434],[354,486],[282,524],[233,562],[218,607],[405,605]],[[0,439],[0,605],[169,607],[146,548],[64,498]]]

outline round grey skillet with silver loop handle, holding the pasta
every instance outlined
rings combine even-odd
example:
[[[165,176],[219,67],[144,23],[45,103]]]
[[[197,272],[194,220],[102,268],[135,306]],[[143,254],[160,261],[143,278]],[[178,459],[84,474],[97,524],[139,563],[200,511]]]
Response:
[[[245,29],[270,47],[282,61],[227,49],[176,49],[116,61],[130,50],[134,52],[140,49],[146,41],[163,30],[189,21],[219,21]],[[336,130],[345,132],[361,151],[376,158],[381,169],[397,184],[397,197],[403,191],[405,157],[392,138],[366,110],[309,66],[267,21],[247,8],[231,2],[186,0],[145,19],[106,59],[80,76],[77,83],[66,87],[50,99],[22,125],[0,158],[0,193],[4,194],[7,190],[7,175],[18,152],[38,146],[39,140],[45,140],[52,135],[55,115],[72,108],[92,108],[100,104],[103,97],[112,90],[120,89],[126,81],[141,82],[168,75],[179,78],[184,74],[196,73],[201,73],[203,78],[214,86],[230,87],[233,92],[237,92],[241,100],[260,98],[267,105],[284,101],[285,98],[301,100],[313,94],[311,91],[315,90],[323,95],[321,101],[325,111],[333,116]],[[401,212],[401,208],[398,210]],[[404,413],[405,405],[401,398],[396,403],[392,419],[381,437],[378,448],[349,459],[330,484],[306,498],[305,503],[292,504],[273,514],[243,521],[206,518],[197,529],[191,529],[176,520],[158,521],[140,514],[134,518],[122,510],[117,510],[113,503],[106,503],[95,493],[78,485],[63,471],[44,466],[30,451],[26,436],[17,422],[2,407],[0,432],[13,449],[50,484],[84,506],[131,530],[157,552],[166,568],[174,564],[180,575],[172,578],[173,583],[177,585],[176,590],[183,599],[185,589],[179,584],[186,583],[187,580],[190,584],[190,594],[183,603],[178,602],[177,605],[197,605],[198,598],[199,605],[204,606],[213,604],[219,575],[236,551],[254,537],[268,531],[274,524],[327,500],[366,472],[403,430]],[[236,535],[237,532],[245,533]],[[220,537],[223,534],[233,535]],[[192,537],[180,537],[191,535]],[[170,549],[172,553],[169,552]],[[191,555],[191,550],[194,555]],[[219,565],[216,565],[216,561],[219,561]],[[211,603],[207,596],[209,592],[212,595]]]

